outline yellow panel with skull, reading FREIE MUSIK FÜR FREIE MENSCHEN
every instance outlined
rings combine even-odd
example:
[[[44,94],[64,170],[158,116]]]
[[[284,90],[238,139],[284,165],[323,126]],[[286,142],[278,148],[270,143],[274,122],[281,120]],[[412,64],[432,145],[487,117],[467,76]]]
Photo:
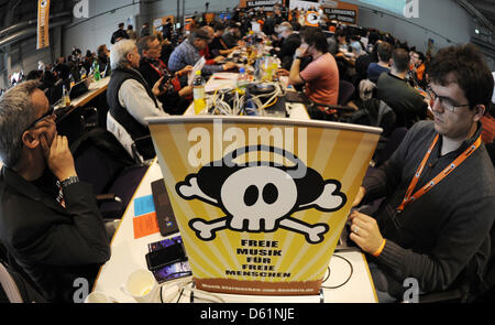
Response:
[[[382,129],[265,117],[146,121],[195,285],[318,295]]]

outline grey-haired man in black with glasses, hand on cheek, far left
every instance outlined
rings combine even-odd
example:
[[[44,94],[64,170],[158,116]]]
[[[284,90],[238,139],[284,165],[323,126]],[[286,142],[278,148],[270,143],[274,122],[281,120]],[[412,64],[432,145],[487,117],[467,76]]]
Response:
[[[48,302],[74,302],[110,258],[92,187],[77,178],[66,137],[40,82],[0,98],[0,243],[9,266]]]

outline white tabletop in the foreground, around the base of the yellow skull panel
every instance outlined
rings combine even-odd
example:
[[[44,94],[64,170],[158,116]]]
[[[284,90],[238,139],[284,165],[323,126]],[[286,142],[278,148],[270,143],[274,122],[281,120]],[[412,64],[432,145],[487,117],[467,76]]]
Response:
[[[151,183],[162,178],[162,172],[156,160],[150,166],[143,177],[133,199],[129,204],[119,228],[111,242],[111,258],[100,269],[98,278],[95,282],[94,291],[100,291],[113,297],[118,302],[133,303],[132,297],[120,291],[120,286],[125,282],[129,274],[138,269],[146,269],[144,256],[147,253],[147,245],[160,241],[168,237],[162,237],[160,232],[150,235],[140,239],[134,239],[133,217],[134,217],[134,198],[151,195]],[[169,237],[177,236],[178,234]],[[352,263],[353,273],[349,282],[338,289],[323,289],[326,303],[373,303],[377,302],[373,281],[367,268],[366,260],[360,251],[342,251],[336,252],[337,256],[345,258]],[[322,284],[323,286],[337,286],[345,282],[349,278],[351,269],[344,260],[333,257],[330,261],[330,278]],[[174,297],[174,302],[178,297],[177,283],[184,279],[165,282],[164,297]],[[190,285],[188,285],[190,288]],[[235,296],[217,294],[227,302],[319,302],[319,297],[305,296]],[[205,295],[196,294],[195,302],[204,302],[201,296],[211,297],[211,293]],[[189,302],[189,294],[184,294],[179,302]]]

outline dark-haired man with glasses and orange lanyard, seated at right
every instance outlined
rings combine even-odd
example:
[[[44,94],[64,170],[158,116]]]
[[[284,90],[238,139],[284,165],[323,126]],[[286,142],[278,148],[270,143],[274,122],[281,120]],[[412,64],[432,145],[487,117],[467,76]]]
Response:
[[[354,206],[385,201],[377,212],[361,206],[350,215],[350,238],[370,254],[378,297],[403,299],[413,278],[420,292],[459,289],[472,301],[494,285],[486,272],[495,171],[480,123],[494,80],[472,44],[440,50],[429,75],[435,120],[416,123],[364,180]]]

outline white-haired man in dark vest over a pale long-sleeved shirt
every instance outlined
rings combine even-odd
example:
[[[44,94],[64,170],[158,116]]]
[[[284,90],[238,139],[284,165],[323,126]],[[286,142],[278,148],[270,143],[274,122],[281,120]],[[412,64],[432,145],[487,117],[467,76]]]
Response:
[[[147,85],[139,73],[141,56],[134,41],[124,40],[116,43],[110,51],[112,76],[108,85],[107,100],[110,107],[107,129],[133,154],[131,147],[135,143],[138,153],[143,159],[155,156],[146,117],[168,116],[156,99],[164,91],[161,78]],[[145,139],[144,141],[142,141]]]

